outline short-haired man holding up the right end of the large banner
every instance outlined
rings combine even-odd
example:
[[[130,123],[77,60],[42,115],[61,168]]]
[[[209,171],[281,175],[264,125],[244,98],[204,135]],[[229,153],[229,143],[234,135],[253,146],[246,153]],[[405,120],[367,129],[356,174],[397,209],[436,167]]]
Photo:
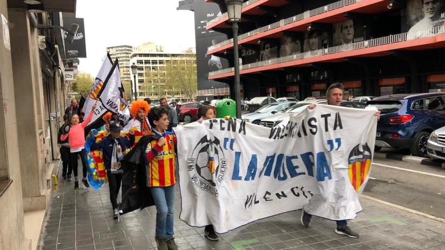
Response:
[[[343,100],[343,91],[344,91],[343,84],[341,84],[341,83],[331,84],[331,86],[329,86],[328,89],[326,90],[326,98],[328,99],[328,105],[340,106],[340,104]],[[315,106],[316,106],[316,104],[311,104],[311,105],[309,105],[309,109],[314,109]],[[380,111],[377,111],[374,115],[377,117],[377,121],[378,121],[380,119]],[[364,149],[364,150],[366,150],[366,149]],[[369,160],[369,165],[370,165],[370,161],[371,160]],[[369,167],[370,166],[368,166],[368,168]],[[367,168],[367,166],[365,163],[365,169],[366,168]],[[307,206],[310,207],[310,202]],[[311,217],[312,217],[312,215],[306,213],[303,208],[303,210],[301,212],[301,219],[300,219],[301,224],[305,227],[309,227]],[[354,232],[349,228],[346,220],[337,220],[337,228],[335,229],[335,233],[341,234],[341,235],[346,235],[351,238],[358,238],[360,236],[357,232]]]

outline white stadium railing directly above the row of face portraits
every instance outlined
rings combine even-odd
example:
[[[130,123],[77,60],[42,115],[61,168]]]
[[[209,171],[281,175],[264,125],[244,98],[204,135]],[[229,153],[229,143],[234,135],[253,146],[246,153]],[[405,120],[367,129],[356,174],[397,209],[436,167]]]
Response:
[[[319,8],[314,9],[314,10],[305,11],[303,13],[300,13],[300,14],[296,15],[296,16],[288,17],[288,18],[282,19],[282,20],[280,20],[278,22],[275,22],[275,23],[272,23],[272,24],[269,24],[269,25],[266,25],[266,26],[254,29],[254,30],[249,31],[247,33],[244,33],[242,35],[239,35],[238,36],[238,40],[242,40],[242,39],[245,39],[247,37],[251,37],[251,36],[254,36],[256,34],[265,32],[265,31],[269,31],[269,30],[273,30],[273,29],[276,29],[276,28],[279,28],[279,27],[283,27],[283,26],[288,25],[290,23],[298,22],[298,21],[301,21],[301,20],[309,18],[309,17],[314,17],[314,16],[317,16],[317,15],[323,14],[325,12],[336,10],[336,9],[339,9],[339,8],[342,8],[342,7],[345,7],[345,6],[348,6],[348,5],[352,5],[352,4],[355,4],[355,3],[359,3],[359,2],[362,2],[362,1],[366,1],[366,0],[341,0],[341,1],[329,4],[329,5],[325,5],[325,6],[319,7]],[[231,38],[229,40],[222,41],[222,42],[217,43],[215,45],[212,45],[212,46],[208,47],[207,49],[208,49],[208,51],[211,51],[212,49],[219,48],[219,47],[231,44],[231,43],[233,43],[233,38]]]

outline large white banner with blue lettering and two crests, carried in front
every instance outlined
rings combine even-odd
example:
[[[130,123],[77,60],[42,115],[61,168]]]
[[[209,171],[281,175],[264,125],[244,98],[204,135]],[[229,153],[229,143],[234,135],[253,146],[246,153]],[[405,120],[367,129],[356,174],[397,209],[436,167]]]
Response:
[[[374,113],[318,105],[272,129],[235,119],[174,128],[180,219],[218,233],[303,207],[354,219],[371,167]]]

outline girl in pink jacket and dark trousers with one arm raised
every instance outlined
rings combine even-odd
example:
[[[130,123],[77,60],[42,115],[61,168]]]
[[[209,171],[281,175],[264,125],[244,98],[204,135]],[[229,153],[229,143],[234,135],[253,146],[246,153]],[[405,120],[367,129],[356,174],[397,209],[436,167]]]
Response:
[[[82,173],[83,178],[82,182],[85,187],[90,187],[88,181],[86,180],[86,160],[85,160],[85,135],[84,129],[90,123],[93,118],[93,111],[96,109],[96,104],[93,105],[93,109],[90,112],[90,115],[82,122],[79,123],[79,116],[73,115],[71,117],[71,127],[67,134],[62,134],[60,136],[61,140],[65,140],[68,137],[68,142],[70,144],[70,162],[74,172],[74,189],[79,189],[79,179],[77,178],[77,156],[80,156],[80,160],[82,161]]]

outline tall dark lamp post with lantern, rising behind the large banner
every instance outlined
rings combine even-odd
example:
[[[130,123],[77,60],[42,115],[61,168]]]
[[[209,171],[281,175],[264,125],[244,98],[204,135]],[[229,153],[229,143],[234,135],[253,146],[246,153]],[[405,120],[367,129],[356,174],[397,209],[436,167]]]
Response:
[[[241,20],[241,9],[243,8],[243,0],[227,0],[227,13],[229,21],[232,22],[233,30],[233,54],[235,69],[235,103],[237,111],[237,119],[241,119],[241,87],[240,87],[240,61],[238,57],[238,22]]]

